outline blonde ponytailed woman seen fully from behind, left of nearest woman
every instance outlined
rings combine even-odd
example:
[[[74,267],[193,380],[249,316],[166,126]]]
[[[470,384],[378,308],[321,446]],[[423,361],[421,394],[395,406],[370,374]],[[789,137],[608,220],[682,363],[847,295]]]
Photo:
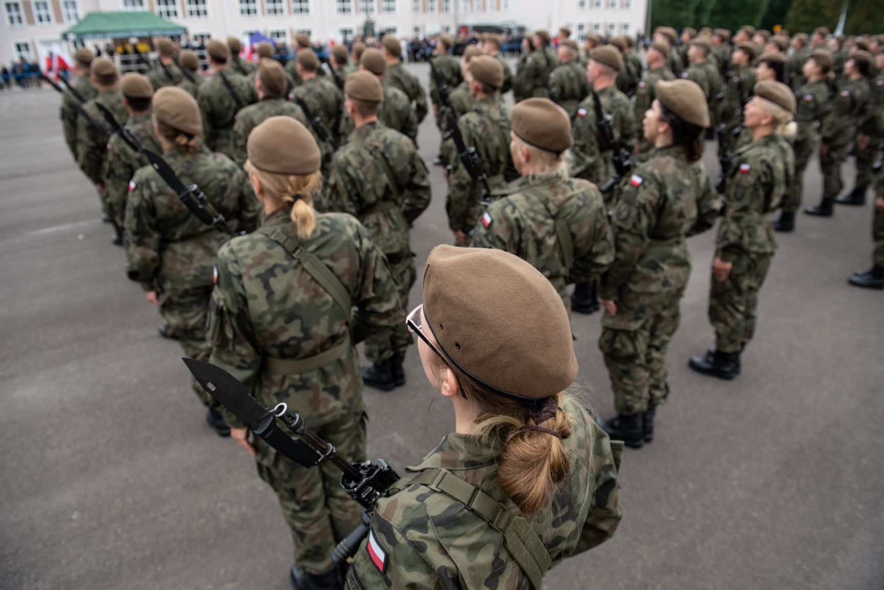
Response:
[[[285,402],[347,461],[363,461],[355,344],[403,321],[396,284],[384,254],[353,216],[316,215],[321,155],[304,125],[270,117],[249,135],[247,153],[263,223],[218,252],[211,362],[263,405]],[[252,446],[248,430],[232,414],[225,418],[232,438],[255,455],[258,474],[276,491],[292,529],[293,586],[339,588],[331,551],[359,525],[362,512],[341,489],[340,471],[329,463],[294,465],[260,438]]]

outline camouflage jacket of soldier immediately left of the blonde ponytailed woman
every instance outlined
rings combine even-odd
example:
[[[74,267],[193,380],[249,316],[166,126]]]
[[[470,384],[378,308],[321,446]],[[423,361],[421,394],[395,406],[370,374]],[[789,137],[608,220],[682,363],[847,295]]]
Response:
[[[163,155],[185,185],[195,184],[233,231],[257,225],[258,201],[246,173],[200,145],[193,155]],[[151,166],[135,172],[126,201],[126,275],[145,291],[180,291],[212,284],[217,249],[229,239],[204,225]]]

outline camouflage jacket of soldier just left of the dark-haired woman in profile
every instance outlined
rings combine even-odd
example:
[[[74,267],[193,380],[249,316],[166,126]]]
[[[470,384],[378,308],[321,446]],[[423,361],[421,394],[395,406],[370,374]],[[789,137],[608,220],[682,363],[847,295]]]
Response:
[[[601,101],[602,114],[611,116],[614,141],[620,142],[631,151],[636,139],[632,103],[613,85],[598,90],[597,94]],[[605,149],[601,145],[601,137],[596,126],[594,101],[590,94],[580,103],[577,117],[571,125],[571,133],[574,135],[574,147],[571,148],[571,153],[574,157],[570,175],[589,180],[596,185],[603,185],[614,174],[611,159],[613,150]]]

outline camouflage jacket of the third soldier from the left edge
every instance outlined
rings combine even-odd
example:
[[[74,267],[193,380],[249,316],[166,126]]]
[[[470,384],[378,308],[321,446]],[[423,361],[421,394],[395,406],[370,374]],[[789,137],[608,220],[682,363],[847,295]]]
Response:
[[[141,146],[159,154],[163,151],[160,142],[154,135],[154,120],[150,112],[132,115],[126,121],[126,127],[141,143]],[[110,206],[114,221],[123,227],[126,216],[126,194],[129,193],[129,181],[135,171],[148,165],[148,158],[136,153],[132,147],[114,133],[108,141],[108,158],[104,169],[104,188],[107,190],[107,203]]]

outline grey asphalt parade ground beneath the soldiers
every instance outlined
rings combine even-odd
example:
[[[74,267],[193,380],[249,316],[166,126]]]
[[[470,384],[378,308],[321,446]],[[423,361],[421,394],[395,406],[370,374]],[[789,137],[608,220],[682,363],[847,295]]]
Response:
[[[409,68],[428,84],[426,65]],[[179,345],[157,335],[156,309],[98,220],[58,104],[49,87],[0,94],[0,588],[286,590],[291,540],[276,498],[253,459],[206,425]],[[438,138],[429,116],[427,162]],[[850,188],[852,160],[844,170]],[[418,276],[432,246],[453,240],[442,170],[431,176],[412,231]],[[805,191],[815,204],[816,159]],[[837,206],[777,236],[733,382],[687,367],[713,344],[714,231],[690,239],[672,394],[654,442],[624,454],[621,527],[546,588],[884,587],[884,293],[846,282],[871,265],[871,223],[871,203]],[[610,415],[599,315],[573,324],[585,402]],[[369,458],[400,473],[453,430],[415,352],[407,376],[364,394]]]

